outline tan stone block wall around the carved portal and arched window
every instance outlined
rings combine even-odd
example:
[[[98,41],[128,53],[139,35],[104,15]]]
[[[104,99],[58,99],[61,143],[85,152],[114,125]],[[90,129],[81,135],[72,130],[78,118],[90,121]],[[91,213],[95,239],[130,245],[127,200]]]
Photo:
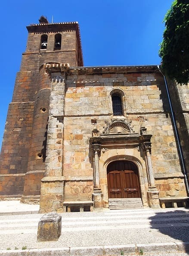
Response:
[[[132,121],[136,133],[139,133],[143,123],[147,133],[152,134],[152,166],[160,190],[159,196],[185,196],[162,76],[159,73],[132,73],[128,70],[127,73],[108,70],[101,74],[90,70],[87,75],[84,72],[87,73],[86,70],[71,69],[66,79],[64,176],[93,175],[89,138],[94,119],[97,129],[102,133],[105,123],[109,123],[112,118],[127,117]],[[124,92],[124,117],[112,114],[112,90]],[[77,181],[75,186],[80,187],[80,182]],[[67,191],[69,199],[77,199],[77,194],[81,193],[81,189],[75,193],[71,185]]]

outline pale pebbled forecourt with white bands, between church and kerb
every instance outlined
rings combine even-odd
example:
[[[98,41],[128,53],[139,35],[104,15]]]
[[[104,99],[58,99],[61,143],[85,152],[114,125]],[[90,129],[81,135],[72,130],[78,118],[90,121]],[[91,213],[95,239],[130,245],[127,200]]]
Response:
[[[189,210],[184,208],[174,211],[108,209],[104,212],[62,213],[62,235],[57,243],[48,244],[37,243],[37,225],[41,216],[42,214],[0,216],[1,250],[8,247],[20,249],[23,246],[86,247],[172,242],[182,241],[183,234],[185,241],[189,240]]]

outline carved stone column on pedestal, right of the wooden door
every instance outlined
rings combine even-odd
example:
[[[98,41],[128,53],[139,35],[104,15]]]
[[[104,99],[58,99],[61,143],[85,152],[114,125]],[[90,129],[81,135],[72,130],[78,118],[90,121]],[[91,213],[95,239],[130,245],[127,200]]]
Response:
[[[146,157],[146,170],[149,177],[149,202],[152,208],[159,208],[159,191],[155,187],[154,173],[152,169],[152,159],[151,159],[151,142],[142,143],[143,151]]]

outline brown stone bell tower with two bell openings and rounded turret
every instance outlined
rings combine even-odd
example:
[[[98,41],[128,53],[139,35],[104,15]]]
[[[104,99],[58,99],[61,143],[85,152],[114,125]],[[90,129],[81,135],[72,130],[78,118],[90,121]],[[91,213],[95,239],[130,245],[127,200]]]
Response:
[[[27,30],[0,155],[0,197],[22,196],[22,202],[39,200],[45,171],[50,81],[40,66],[51,62],[83,66],[77,22],[49,23],[41,16],[39,24]]]

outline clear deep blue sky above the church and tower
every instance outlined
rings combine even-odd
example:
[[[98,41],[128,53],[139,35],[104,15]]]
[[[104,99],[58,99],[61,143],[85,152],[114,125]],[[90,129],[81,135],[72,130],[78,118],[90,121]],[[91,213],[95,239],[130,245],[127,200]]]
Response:
[[[9,0],[1,3],[0,146],[22,53],[26,25],[78,21],[85,66],[150,65],[161,62],[164,15],[172,0]]]

